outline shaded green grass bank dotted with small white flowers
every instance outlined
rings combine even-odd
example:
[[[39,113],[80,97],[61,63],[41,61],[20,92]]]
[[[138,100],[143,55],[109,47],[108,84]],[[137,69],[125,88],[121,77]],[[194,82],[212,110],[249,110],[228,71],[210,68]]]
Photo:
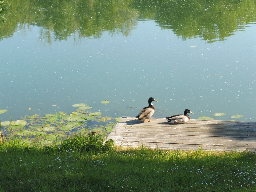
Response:
[[[254,152],[116,148],[100,135],[0,145],[0,192],[256,191]]]

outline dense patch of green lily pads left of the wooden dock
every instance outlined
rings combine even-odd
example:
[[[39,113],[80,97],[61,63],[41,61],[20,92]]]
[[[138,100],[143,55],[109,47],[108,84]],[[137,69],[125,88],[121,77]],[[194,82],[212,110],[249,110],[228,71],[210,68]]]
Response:
[[[109,134],[121,118],[102,117],[101,112],[85,111],[92,108],[85,103],[75,104],[73,107],[78,107],[78,109],[70,114],[60,111],[42,117],[37,114],[24,116],[18,121],[1,122],[1,128],[5,135],[11,131],[16,137],[20,137],[21,141],[26,138],[24,142],[29,140],[28,145],[30,142],[47,145],[53,140],[60,141],[62,138],[78,132],[86,135],[90,132]]]

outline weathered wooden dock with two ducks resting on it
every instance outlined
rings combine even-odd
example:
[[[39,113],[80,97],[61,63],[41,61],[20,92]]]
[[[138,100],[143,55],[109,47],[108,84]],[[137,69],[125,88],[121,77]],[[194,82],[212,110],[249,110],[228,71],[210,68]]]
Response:
[[[122,117],[107,139],[123,147],[256,150],[256,122],[191,119],[186,124],[169,124],[164,118],[150,120],[142,122],[134,117]]]

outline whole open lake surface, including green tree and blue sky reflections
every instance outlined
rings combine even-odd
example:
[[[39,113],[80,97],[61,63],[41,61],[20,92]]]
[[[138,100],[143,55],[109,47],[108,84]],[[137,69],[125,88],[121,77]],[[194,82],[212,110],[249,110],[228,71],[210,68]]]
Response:
[[[135,117],[149,97],[153,117],[256,121],[256,2],[222,3],[13,3],[0,27],[1,121],[77,103]]]

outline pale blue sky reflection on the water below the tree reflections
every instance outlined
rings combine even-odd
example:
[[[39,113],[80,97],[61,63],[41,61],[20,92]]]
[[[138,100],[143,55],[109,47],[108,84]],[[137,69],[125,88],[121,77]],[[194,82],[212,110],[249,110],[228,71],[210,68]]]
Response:
[[[155,21],[137,21],[129,36],[104,32],[45,45],[40,27],[17,30],[0,41],[1,121],[64,111],[87,103],[102,116],[136,116],[154,97],[156,113],[166,117],[189,108],[197,119],[256,121],[256,25],[224,41],[186,41]],[[100,101],[109,100],[109,104]],[[57,105],[57,106],[52,106]],[[32,110],[28,110],[32,108]],[[226,116],[214,117],[223,112]],[[242,114],[244,117],[232,119]]]

